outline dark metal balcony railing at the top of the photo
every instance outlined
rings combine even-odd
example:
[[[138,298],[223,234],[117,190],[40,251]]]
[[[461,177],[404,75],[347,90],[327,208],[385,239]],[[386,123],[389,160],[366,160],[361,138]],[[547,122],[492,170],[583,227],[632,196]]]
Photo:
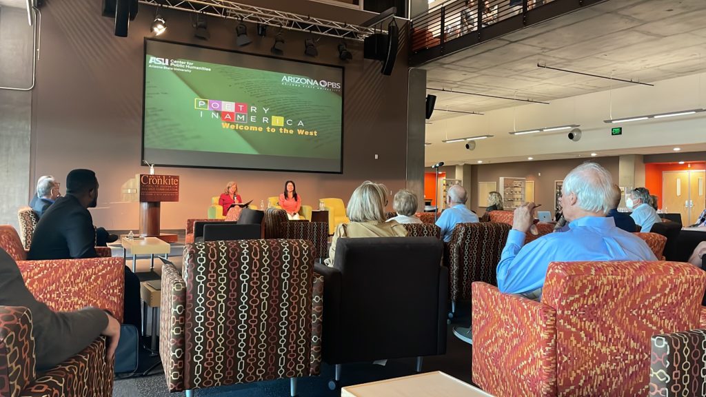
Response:
[[[409,61],[419,66],[527,25],[604,0],[449,0],[412,18]]]

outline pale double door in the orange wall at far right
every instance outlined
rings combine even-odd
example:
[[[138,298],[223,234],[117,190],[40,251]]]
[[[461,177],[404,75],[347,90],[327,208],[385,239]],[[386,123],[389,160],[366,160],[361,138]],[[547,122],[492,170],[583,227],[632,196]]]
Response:
[[[681,213],[684,226],[696,223],[706,206],[706,171],[665,171],[662,173],[662,209]]]

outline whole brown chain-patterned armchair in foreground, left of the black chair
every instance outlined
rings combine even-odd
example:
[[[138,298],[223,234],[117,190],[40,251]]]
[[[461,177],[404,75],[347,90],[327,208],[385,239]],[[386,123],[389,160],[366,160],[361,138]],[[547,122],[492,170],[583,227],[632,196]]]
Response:
[[[306,240],[198,242],[162,267],[160,355],[169,391],[318,375],[323,279]],[[225,331],[224,331],[225,330]]]

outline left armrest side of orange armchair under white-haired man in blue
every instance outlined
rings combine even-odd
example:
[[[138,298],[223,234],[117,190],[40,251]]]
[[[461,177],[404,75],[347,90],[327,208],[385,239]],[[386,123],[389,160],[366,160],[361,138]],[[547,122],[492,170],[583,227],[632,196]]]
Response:
[[[494,396],[556,393],[556,311],[473,283],[473,381]]]

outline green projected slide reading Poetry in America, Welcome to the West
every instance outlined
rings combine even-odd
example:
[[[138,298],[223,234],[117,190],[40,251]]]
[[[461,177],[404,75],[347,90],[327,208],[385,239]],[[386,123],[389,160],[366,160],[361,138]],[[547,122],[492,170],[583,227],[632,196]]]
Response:
[[[145,40],[143,158],[341,172],[343,69]]]

